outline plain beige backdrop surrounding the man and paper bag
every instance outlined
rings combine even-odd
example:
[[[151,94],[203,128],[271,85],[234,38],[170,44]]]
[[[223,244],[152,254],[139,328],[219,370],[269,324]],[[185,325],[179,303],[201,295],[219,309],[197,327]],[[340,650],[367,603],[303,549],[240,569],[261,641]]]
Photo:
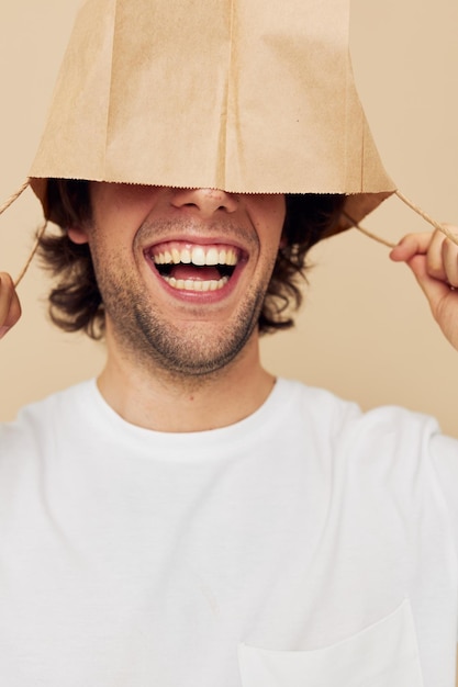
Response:
[[[0,199],[26,177],[78,4],[0,5]],[[458,224],[457,27],[457,0],[353,2],[355,72],[386,167],[406,195],[438,219]],[[29,191],[3,215],[1,269],[18,272],[40,219]],[[395,200],[366,225],[393,240],[427,229]],[[298,327],[264,341],[265,362],[365,408],[395,403],[434,414],[458,436],[458,356],[431,319],[413,278],[387,254],[356,232],[321,245]],[[103,346],[47,323],[46,286],[34,266],[20,288],[21,324],[0,342],[2,419],[93,375],[103,361]]]

